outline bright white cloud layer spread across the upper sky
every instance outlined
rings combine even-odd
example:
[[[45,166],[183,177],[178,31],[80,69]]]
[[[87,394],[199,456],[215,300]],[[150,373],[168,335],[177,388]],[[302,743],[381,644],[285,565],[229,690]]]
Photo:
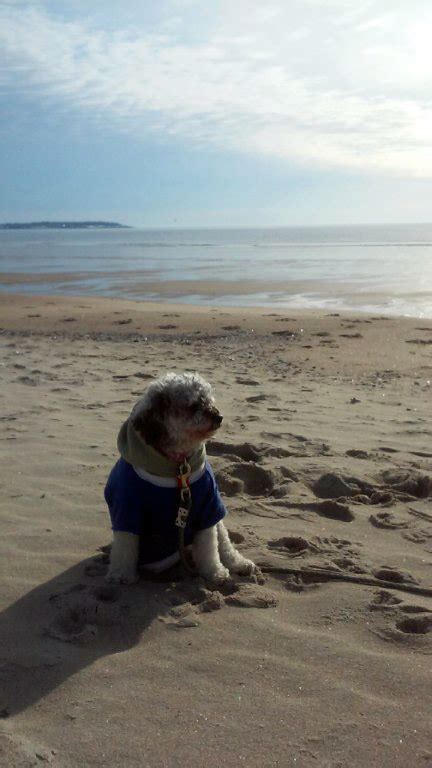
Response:
[[[314,168],[432,176],[421,0],[176,0],[151,23],[0,3],[0,88],[146,139]],[[289,5],[289,8],[287,6]],[[109,3],[104,6],[109,15]]]

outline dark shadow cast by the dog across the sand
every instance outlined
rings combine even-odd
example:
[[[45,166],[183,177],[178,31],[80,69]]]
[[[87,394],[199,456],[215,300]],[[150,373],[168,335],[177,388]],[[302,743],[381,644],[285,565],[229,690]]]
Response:
[[[155,619],[199,601],[180,566],[130,587],[104,582],[107,555],[84,560],[0,614],[0,717],[39,701],[96,659],[136,645]],[[158,580],[156,580],[158,579]]]

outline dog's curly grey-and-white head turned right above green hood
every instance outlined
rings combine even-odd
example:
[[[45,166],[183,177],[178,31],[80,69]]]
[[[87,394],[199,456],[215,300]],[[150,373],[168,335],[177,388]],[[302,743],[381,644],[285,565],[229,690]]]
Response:
[[[211,386],[197,373],[153,381],[131,418],[146,443],[175,461],[190,456],[222,423]]]

